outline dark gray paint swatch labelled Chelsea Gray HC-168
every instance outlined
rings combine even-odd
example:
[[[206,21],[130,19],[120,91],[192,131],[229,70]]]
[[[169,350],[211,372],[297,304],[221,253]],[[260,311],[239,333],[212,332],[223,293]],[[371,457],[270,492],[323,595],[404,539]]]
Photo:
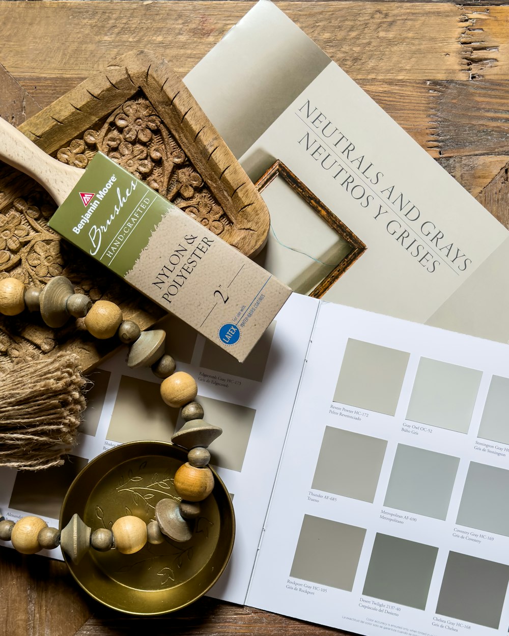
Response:
[[[449,552],[437,614],[498,629],[509,565]]]

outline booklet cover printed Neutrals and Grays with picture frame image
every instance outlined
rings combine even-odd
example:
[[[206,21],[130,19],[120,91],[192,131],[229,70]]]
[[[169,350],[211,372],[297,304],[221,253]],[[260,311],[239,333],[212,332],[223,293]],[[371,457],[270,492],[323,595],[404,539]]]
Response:
[[[262,191],[259,263],[279,280],[308,294],[329,279],[324,300],[509,340],[506,228],[275,4],[255,4],[184,81],[253,181],[278,160],[322,211],[285,170]]]

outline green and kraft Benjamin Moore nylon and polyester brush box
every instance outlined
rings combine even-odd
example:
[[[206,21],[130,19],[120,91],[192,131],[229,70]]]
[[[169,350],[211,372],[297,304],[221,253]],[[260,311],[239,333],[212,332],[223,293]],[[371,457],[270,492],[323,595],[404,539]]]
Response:
[[[240,362],[291,293],[102,153],[50,227]]]

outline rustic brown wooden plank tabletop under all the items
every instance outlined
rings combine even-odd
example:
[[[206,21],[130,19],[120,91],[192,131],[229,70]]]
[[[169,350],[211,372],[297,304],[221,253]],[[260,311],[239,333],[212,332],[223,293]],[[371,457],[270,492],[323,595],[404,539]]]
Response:
[[[503,1],[276,4],[509,226],[509,6]],[[0,115],[20,124],[130,50],[153,50],[184,76],[252,4],[0,0]],[[128,618],[86,597],[63,563],[0,548],[1,635],[114,636],[143,629],[154,636],[346,633],[210,598],[170,618]]]

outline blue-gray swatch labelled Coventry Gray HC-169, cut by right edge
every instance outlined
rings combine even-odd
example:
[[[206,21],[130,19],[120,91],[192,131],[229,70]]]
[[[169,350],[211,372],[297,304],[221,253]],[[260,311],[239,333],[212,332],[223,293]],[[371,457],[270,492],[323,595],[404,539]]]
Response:
[[[509,537],[509,471],[470,462],[456,523]]]

